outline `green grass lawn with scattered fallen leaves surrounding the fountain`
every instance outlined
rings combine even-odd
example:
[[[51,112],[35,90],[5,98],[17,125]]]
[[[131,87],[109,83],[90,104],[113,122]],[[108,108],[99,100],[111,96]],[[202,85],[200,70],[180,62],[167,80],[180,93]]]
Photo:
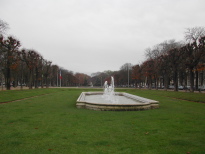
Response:
[[[0,153],[205,153],[205,104],[197,103],[205,94],[119,89],[160,108],[77,109],[80,93],[91,90],[0,91],[0,102],[31,97],[0,104]]]

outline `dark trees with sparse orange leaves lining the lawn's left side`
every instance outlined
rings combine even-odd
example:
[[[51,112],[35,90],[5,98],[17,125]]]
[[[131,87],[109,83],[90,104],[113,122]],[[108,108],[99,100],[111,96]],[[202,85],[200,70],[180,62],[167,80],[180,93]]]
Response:
[[[5,37],[8,24],[0,20],[0,83],[10,90],[11,86],[24,85],[32,89],[48,86],[87,85],[89,76],[74,74],[43,58],[33,49],[20,49],[21,42],[12,37]]]

